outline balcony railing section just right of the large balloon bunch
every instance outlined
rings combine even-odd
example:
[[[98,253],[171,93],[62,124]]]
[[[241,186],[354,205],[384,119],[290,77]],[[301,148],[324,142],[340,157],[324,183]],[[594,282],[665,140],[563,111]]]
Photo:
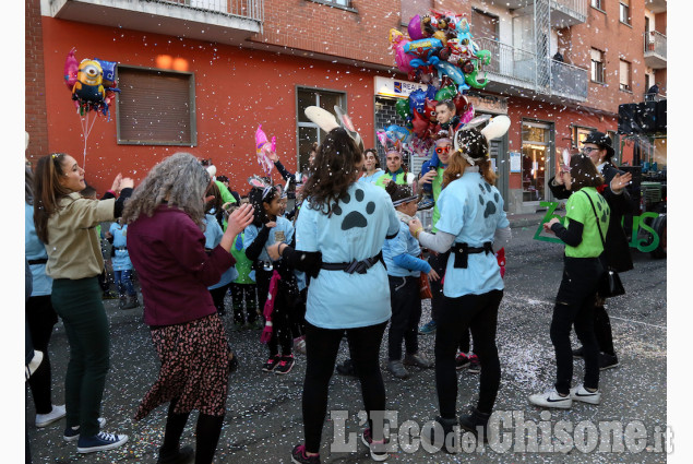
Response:
[[[485,71],[530,84],[529,88],[534,88],[537,74],[536,55],[491,38],[478,38],[475,41],[482,50],[491,52],[491,63],[483,67]]]

